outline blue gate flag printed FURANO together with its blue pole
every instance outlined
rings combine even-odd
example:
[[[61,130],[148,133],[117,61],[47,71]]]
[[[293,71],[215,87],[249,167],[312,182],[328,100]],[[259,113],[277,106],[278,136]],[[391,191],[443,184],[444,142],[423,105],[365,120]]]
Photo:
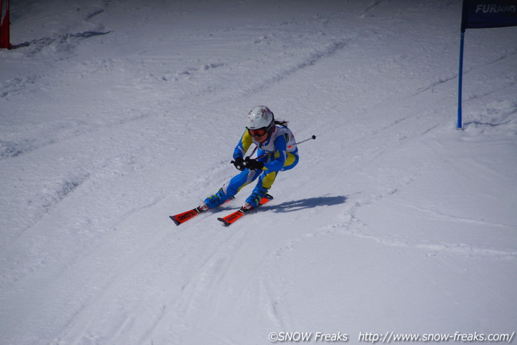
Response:
[[[462,127],[461,92],[465,29],[517,26],[517,0],[463,0],[458,72],[458,128]]]

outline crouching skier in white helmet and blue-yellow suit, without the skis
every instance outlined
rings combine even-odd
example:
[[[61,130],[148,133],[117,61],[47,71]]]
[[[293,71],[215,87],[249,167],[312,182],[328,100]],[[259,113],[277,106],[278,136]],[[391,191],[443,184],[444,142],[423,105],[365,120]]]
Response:
[[[278,172],[292,169],[298,163],[295,137],[287,124],[287,121],[275,120],[266,106],[251,109],[246,130],[234,149],[234,160],[231,162],[242,172],[225,183],[217,193],[206,198],[198,210],[204,212],[216,208],[258,178],[254,190],[241,209],[247,211],[255,208],[273,185]],[[258,147],[257,158],[244,159],[251,143]]]

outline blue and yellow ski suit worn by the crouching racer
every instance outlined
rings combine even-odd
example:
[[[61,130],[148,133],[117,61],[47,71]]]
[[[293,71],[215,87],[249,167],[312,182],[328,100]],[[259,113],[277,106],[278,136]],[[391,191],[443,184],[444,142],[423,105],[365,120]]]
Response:
[[[258,147],[256,157],[260,157],[258,161],[263,162],[263,168],[261,170],[246,168],[240,174],[234,176],[214,196],[205,199],[205,203],[209,208],[215,208],[224,203],[228,198],[237,194],[244,186],[258,178],[253,192],[246,199],[246,203],[250,203],[255,207],[258,201],[267,193],[268,189],[273,186],[278,172],[292,169],[298,163],[298,149],[295,136],[292,135],[291,130],[287,127],[275,125],[273,132],[264,142],[256,142],[254,137],[246,130],[234,149],[234,159],[238,157],[244,158],[244,154],[251,144]]]

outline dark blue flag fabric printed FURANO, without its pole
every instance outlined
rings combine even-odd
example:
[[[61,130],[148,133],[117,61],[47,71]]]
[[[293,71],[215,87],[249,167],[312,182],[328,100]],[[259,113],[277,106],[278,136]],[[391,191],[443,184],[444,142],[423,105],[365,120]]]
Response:
[[[517,26],[517,0],[463,0],[461,32]]]

